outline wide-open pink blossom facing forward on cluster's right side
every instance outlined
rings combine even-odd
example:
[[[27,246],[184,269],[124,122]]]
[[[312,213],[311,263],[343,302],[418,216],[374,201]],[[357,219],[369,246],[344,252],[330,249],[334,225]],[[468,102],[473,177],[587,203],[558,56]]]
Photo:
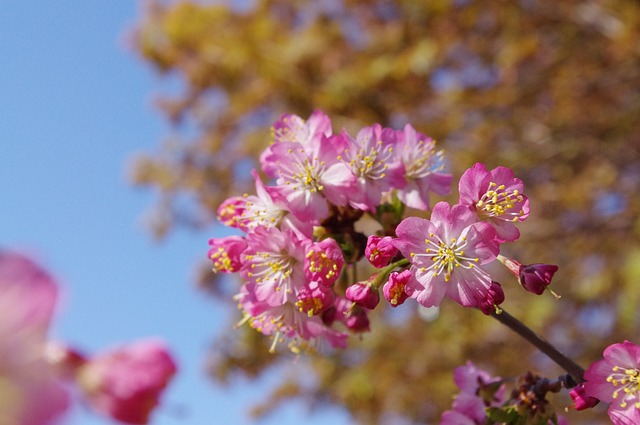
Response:
[[[396,233],[396,247],[411,262],[405,291],[418,303],[437,306],[446,295],[476,307],[487,298],[492,280],[479,266],[496,258],[499,245],[493,227],[476,222],[468,208],[439,202],[431,220],[406,218]]]

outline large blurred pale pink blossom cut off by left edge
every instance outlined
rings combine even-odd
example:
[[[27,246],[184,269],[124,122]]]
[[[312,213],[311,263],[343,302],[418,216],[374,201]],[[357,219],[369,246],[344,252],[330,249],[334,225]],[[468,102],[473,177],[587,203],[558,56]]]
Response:
[[[49,425],[68,408],[45,357],[58,288],[29,258],[0,251],[0,412],[3,423]]]

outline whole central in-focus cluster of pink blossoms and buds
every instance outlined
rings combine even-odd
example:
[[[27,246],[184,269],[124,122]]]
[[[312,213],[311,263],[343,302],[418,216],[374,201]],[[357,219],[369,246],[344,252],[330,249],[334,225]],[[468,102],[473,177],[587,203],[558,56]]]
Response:
[[[432,194],[450,193],[452,176],[433,139],[409,124],[334,133],[320,111],[307,120],[283,115],[272,137],[260,156],[272,184],[254,170],[256,194],[220,205],[219,220],[243,234],[211,239],[208,253],[214,271],[242,277],[236,299],[244,321],[271,335],[272,347],[283,339],[296,350],[301,341],[344,347],[347,334],[335,326],[367,330],[380,287],[393,307],[408,298],[437,306],[449,297],[485,314],[497,310],[504,292],[484,266],[504,258],[500,245],[518,239],[516,224],[529,215],[511,170],[475,164],[460,179],[458,204],[439,202],[429,219],[402,220],[404,207],[429,211]],[[382,230],[357,232],[364,214]],[[336,284],[345,263],[355,267],[362,257],[379,272]],[[555,270],[536,273],[538,266],[545,265],[523,266],[533,270],[519,278],[541,293],[540,279],[549,277],[548,285]]]

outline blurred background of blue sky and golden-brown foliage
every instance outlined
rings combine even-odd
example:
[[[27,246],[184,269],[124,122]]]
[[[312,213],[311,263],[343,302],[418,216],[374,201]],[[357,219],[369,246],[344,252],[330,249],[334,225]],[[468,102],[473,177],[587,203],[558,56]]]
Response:
[[[562,373],[453,303],[429,323],[411,304],[379,308],[350,350],[297,362],[233,330],[234,282],[208,272],[206,241],[225,234],[215,208],[251,191],[285,112],[322,109],[336,131],[410,122],[456,178],[478,161],[512,168],[532,210],[503,254],[558,264],[562,298],[496,267],[505,309],[584,366],[640,342],[637,2],[73,3],[3,3],[0,243],[35,249],[61,278],[56,337],[89,351],[169,340],[182,373],[154,423],[243,423],[256,405],[265,423],[308,422],[308,408],[434,423],[467,359]],[[607,421],[602,407],[568,416]],[[70,423],[104,421],[79,408]]]

